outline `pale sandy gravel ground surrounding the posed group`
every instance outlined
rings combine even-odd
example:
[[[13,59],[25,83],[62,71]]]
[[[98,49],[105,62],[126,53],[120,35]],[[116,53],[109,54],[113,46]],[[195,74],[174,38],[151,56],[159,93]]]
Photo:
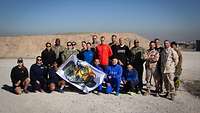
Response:
[[[152,95],[96,95],[76,90],[15,95],[10,92],[10,71],[16,59],[0,59],[0,113],[199,113],[200,52],[183,52],[183,58],[183,84],[174,101]],[[29,68],[35,60],[24,62]]]

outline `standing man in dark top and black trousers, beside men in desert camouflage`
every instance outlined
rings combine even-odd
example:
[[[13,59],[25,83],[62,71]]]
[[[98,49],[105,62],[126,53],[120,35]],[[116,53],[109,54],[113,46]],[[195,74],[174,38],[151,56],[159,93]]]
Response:
[[[131,57],[130,62],[133,67],[136,68],[138,71],[138,78],[139,78],[139,92],[142,93],[143,88],[143,64],[145,62],[145,49],[140,47],[139,40],[134,40],[134,47],[130,49]]]

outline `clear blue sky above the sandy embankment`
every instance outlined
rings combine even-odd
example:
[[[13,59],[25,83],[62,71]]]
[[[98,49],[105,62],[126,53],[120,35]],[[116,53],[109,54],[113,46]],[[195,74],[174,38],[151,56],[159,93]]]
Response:
[[[0,0],[0,35],[136,32],[200,39],[200,0]]]

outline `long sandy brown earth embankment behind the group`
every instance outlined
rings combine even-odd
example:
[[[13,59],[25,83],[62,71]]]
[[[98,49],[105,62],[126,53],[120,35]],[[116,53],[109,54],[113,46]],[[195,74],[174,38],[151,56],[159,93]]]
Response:
[[[76,41],[80,48],[81,41],[91,41],[91,36],[105,36],[106,42],[111,41],[111,35],[125,38],[126,44],[133,46],[133,40],[140,40],[142,47],[147,48],[149,40],[135,33],[66,33],[55,35],[21,35],[21,36],[1,36],[0,37],[0,58],[35,58],[41,54],[46,42],[54,44],[56,38],[61,39],[61,45],[66,46],[67,41]]]

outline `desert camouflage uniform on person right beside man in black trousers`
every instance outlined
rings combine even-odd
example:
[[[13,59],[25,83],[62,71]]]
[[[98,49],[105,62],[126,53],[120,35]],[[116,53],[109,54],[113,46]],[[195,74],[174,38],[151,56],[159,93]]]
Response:
[[[160,76],[158,74],[157,62],[159,60],[159,52],[155,49],[147,50],[147,58],[146,58],[146,81],[147,81],[147,89],[148,93],[150,93],[150,83],[152,76],[154,77],[156,91],[159,90]]]

